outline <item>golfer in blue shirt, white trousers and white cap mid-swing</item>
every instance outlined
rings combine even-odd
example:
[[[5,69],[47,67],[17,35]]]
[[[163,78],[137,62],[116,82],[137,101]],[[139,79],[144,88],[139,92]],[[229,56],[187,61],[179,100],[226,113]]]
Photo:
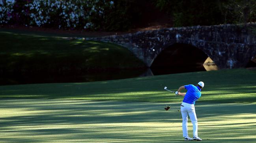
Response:
[[[198,137],[197,134],[197,118],[196,118],[196,110],[194,104],[198,98],[201,97],[201,89],[204,87],[204,82],[200,81],[196,86],[184,85],[179,87],[178,91],[175,92],[176,95],[184,96],[184,99],[181,103],[181,116],[182,116],[182,130],[183,130],[183,137],[185,141],[197,140],[202,141]],[[187,93],[181,93],[182,89],[186,89]],[[193,124],[193,138],[189,138],[188,130],[187,130],[187,115],[191,119]]]

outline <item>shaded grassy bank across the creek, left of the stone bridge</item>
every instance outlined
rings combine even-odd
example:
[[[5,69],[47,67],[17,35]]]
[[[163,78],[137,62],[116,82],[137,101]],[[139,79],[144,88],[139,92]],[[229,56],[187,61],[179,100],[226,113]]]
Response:
[[[0,74],[69,74],[132,69],[144,64],[121,46],[0,31]]]

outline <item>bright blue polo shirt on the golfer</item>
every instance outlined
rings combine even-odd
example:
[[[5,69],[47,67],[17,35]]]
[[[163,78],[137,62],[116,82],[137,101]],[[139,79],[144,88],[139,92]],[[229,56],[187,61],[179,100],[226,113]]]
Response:
[[[185,94],[183,102],[195,104],[196,100],[201,97],[201,89],[198,86],[194,86],[192,84],[185,85],[185,89],[187,89],[187,93]]]

